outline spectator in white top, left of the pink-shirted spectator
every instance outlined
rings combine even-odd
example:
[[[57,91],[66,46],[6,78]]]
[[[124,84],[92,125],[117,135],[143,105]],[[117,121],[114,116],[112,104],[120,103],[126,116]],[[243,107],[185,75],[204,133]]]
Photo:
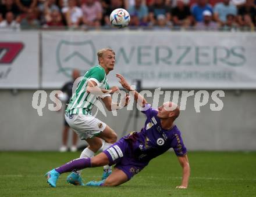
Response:
[[[62,13],[65,16],[66,24],[68,27],[79,27],[83,12],[81,8],[77,7],[76,0],[69,0],[68,6],[62,8]]]

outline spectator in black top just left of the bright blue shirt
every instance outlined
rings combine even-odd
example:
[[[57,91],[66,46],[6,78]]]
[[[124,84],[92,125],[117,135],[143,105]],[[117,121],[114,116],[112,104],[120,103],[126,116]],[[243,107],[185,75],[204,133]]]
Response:
[[[191,14],[189,6],[184,0],[177,0],[177,6],[172,9],[173,25],[176,27],[189,27],[191,24]]]

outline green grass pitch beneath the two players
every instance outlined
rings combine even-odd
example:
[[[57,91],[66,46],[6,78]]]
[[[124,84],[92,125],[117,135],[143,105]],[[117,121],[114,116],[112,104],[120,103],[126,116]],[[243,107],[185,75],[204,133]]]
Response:
[[[0,152],[0,196],[256,196],[256,152],[190,152],[190,185],[180,184],[182,168],[173,152],[152,160],[119,187],[75,187],[66,174],[50,188],[44,174],[77,153]],[[99,180],[102,167],[85,169],[84,182]]]

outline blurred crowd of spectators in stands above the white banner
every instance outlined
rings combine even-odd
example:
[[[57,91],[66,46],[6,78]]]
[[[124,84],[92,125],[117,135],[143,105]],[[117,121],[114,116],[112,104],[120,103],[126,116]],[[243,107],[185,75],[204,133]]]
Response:
[[[129,28],[254,31],[256,0],[0,0],[0,29],[109,28],[116,8]]]

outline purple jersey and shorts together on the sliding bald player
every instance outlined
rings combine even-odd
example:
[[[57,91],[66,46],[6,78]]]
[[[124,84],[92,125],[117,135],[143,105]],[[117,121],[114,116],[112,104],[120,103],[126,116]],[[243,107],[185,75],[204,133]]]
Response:
[[[108,156],[109,165],[116,164],[115,167],[125,172],[129,179],[169,148],[173,148],[177,156],[187,153],[177,126],[170,130],[162,129],[158,111],[149,104],[145,108],[147,110],[143,113],[147,120],[141,132],[132,132],[103,151]]]

